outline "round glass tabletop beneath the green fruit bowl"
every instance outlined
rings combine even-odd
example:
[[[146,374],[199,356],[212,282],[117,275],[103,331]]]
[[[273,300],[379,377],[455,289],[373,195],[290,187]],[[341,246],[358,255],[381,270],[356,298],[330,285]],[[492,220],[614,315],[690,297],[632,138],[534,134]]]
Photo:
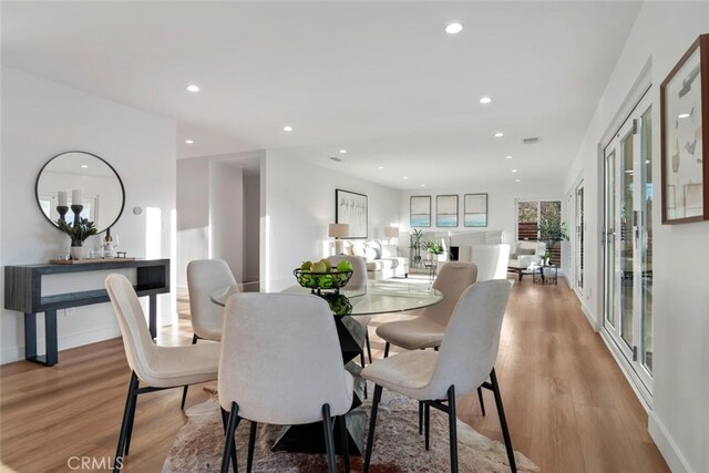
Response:
[[[310,294],[310,289],[294,284],[292,279],[263,282],[246,282],[217,289],[210,296],[214,304],[226,305],[237,292],[289,292]],[[368,281],[361,290],[340,290],[352,305],[350,316],[401,312],[433,306],[443,300],[443,294],[430,285],[401,280]]]

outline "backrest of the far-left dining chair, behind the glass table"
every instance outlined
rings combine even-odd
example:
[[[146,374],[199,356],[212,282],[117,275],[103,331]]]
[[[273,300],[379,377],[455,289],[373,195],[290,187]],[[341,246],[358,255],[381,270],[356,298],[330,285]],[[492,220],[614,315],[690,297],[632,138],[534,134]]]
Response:
[[[199,338],[219,340],[215,333],[222,331],[224,308],[209,296],[223,287],[236,287],[236,279],[226,261],[222,259],[195,259],[187,265],[187,290],[192,329]]]

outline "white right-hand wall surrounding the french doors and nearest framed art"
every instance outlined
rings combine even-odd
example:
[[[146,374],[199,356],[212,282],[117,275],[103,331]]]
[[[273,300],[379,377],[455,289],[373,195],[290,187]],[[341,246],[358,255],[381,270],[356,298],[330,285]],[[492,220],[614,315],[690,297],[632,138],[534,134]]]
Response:
[[[603,317],[599,245],[603,181],[598,144],[617,121],[650,61],[654,164],[654,397],[649,431],[672,471],[709,471],[709,223],[660,225],[659,84],[697,35],[709,32],[709,3],[646,2],[628,37],[565,188],[583,176],[586,192],[587,308]],[[707,78],[702,78],[707,81]],[[708,124],[705,123],[705,126]]]

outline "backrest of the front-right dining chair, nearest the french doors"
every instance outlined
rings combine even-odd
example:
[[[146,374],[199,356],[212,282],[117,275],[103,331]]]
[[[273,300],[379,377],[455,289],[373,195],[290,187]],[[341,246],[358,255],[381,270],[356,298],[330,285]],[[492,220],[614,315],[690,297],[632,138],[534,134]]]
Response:
[[[449,321],[431,388],[444,395],[451,384],[462,395],[483,383],[492,371],[502,319],[512,290],[511,280],[476,282],[461,296]]]

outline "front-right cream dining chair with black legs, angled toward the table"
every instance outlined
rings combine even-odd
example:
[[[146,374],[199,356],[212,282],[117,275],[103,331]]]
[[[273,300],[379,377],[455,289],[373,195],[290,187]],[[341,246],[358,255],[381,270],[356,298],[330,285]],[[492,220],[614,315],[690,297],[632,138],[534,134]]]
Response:
[[[430,408],[448,413],[451,472],[458,472],[455,397],[481,387],[493,391],[510,467],[513,472],[516,471],[514,450],[494,369],[511,288],[512,281],[499,279],[470,286],[455,306],[439,351],[405,351],[374,361],[362,370],[362,377],[374,383],[364,472],[369,471],[382,388],[423,402],[427,450]],[[489,377],[490,382],[486,381]],[[395,439],[391,441],[395,442]]]

